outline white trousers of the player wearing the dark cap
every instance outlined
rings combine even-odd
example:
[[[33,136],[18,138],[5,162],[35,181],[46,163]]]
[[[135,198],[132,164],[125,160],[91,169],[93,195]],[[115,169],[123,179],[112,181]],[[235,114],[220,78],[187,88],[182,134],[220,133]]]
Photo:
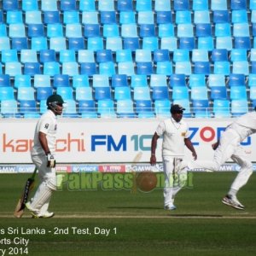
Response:
[[[183,188],[184,183],[187,181],[187,169],[183,168],[180,172],[175,172],[174,161],[175,158],[173,156],[163,156],[163,168],[165,173],[165,206],[173,204],[174,196]]]

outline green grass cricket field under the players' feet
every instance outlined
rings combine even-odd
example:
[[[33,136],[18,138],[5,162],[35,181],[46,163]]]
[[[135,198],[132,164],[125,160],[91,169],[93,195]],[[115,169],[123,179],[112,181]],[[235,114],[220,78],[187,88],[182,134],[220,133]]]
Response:
[[[235,176],[193,173],[173,212],[163,210],[160,188],[86,190],[66,183],[52,198],[54,218],[34,219],[26,212],[16,219],[12,214],[29,175],[1,174],[0,255],[4,249],[9,250],[5,255],[13,250],[13,255],[36,256],[255,255],[256,176],[238,195],[245,211],[221,203]],[[36,229],[41,234],[28,234]],[[22,239],[29,239],[27,246],[18,244]]]

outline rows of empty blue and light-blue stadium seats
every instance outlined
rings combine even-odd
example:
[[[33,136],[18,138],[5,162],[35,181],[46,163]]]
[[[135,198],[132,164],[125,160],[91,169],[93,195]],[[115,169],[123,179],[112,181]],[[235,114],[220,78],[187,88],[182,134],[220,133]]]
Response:
[[[69,101],[63,116],[84,118],[167,116],[171,102],[185,104],[187,117],[232,117],[255,105],[255,1],[4,0],[1,7],[3,117],[37,118],[55,92]],[[32,102],[21,112],[23,100],[35,101],[29,114]]]

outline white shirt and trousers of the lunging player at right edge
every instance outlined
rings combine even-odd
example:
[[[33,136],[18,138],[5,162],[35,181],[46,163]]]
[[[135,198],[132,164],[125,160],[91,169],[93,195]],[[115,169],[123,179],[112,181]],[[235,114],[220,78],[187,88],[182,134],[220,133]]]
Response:
[[[247,160],[247,154],[241,147],[241,142],[253,133],[256,133],[256,112],[242,115],[226,128],[220,137],[213,160],[189,161],[189,169],[203,168],[219,171],[219,167],[231,158],[241,166],[241,170],[230,188],[238,191],[247,183],[253,173],[253,165],[250,160]]]

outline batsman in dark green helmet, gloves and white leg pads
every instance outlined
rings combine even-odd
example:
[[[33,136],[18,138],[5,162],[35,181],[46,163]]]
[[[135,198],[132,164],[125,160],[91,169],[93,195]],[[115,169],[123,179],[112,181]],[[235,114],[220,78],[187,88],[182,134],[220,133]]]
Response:
[[[57,131],[57,115],[63,110],[63,99],[59,95],[49,96],[47,112],[38,120],[32,147],[32,162],[38,169],[39,186],[26,208],[33,218],[51,218],[54,212],[48,212],[52,192],[56,190],[55,176],[55,140]]]

